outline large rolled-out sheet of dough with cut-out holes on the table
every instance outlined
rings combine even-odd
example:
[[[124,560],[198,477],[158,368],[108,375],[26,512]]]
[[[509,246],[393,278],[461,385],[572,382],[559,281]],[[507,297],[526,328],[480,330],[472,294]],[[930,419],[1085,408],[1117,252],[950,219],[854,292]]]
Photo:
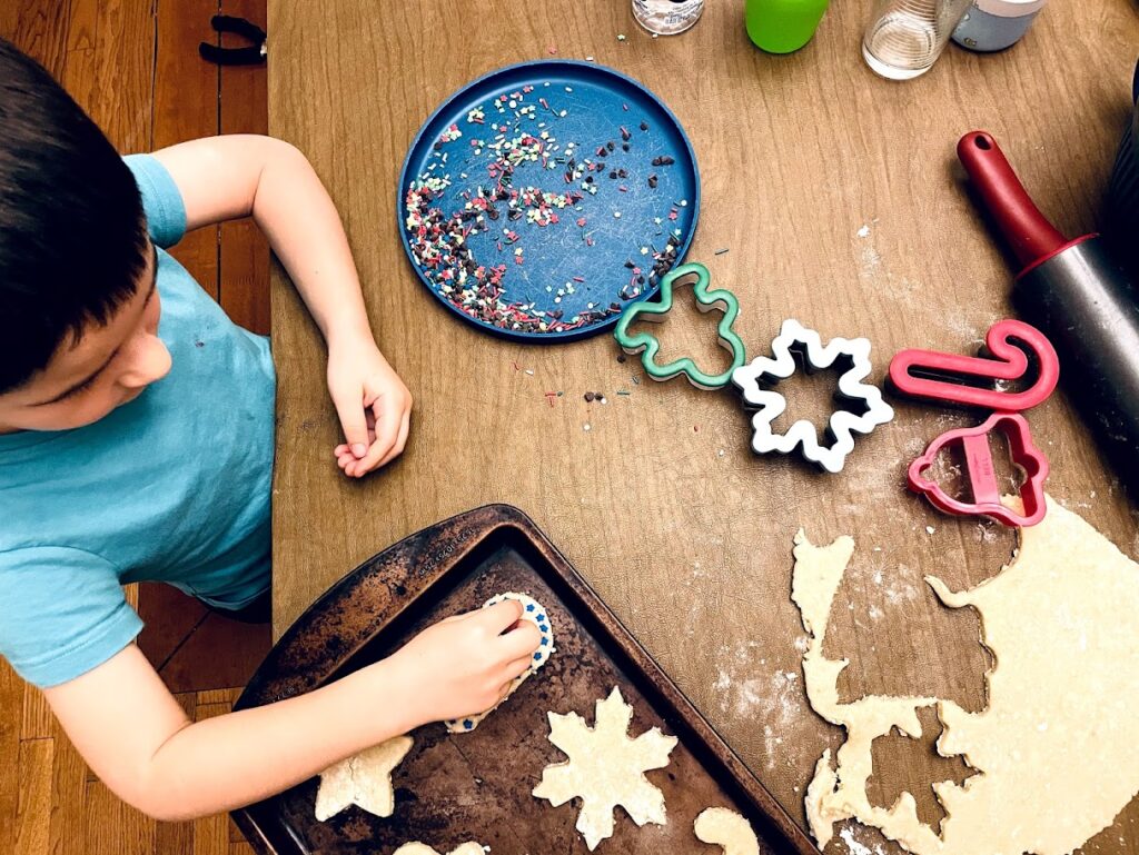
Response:
[[[1014,500],[1009,500],[1013,504]],[[820,846],[853,817],[918,855],[1066,855],[1112,824],[1139,791],[1139,565],[1076,513],[1051,499],[1043,521],[1019,529],[1019,550],[1001,573],[951,592],[926,582],[951,608],[974,607],[981,641],[994,657],[988,706],[968,713],[951,700],[866,696],[838,700],[847,660],[822,655],[831,602],[854,550],[850,537],[814,546],[795,537],[792,599],[810,635],[803,675],[811,706],[846,729],[837,768],[830,750],[806,798]],[[917,710],[935,705],[937,751],[977,772],[964,786],[933,784],[947,816],[941,836],[903,792],[893,806],[869,803],[871,745],[892,727],[918,738]]]

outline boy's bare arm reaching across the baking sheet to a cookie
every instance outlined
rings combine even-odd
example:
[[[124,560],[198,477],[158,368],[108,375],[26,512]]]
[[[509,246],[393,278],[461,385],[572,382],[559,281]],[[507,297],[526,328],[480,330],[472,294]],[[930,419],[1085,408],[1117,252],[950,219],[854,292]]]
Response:
[[[491,708],[541,638],[521,615],[506,601],[448,618],[327,687],[195,724],[134,644],[44,696],[120,798],[186,820],[280,792],[420,724]]]

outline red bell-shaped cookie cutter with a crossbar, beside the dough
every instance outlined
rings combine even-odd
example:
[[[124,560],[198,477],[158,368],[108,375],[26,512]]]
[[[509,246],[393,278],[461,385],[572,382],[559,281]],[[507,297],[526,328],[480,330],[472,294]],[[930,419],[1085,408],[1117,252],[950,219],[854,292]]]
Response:
[[[1000,500],[1001,490],[997,484],[997,471],[989,447],[989,436],[998,430],[1008,438],[1013,462],[1025,474],[1019,491],[1024,513],[1017,513]],[[973,491],[972,502],[952,498],[940,484],[925,476],[937,454],[954,442],[960,442],[965,451],[965,468]],[[1032,442],[1027,420],[1014,412],[994,412],[983,425],[942,434],[929,443],[921,457],[910,463],[907,472],[910,490],[924,494],[935,508],[959,516],[992,517],[1007,526],[1034,526],[1044,518],[1047,477],[1048,458]]]

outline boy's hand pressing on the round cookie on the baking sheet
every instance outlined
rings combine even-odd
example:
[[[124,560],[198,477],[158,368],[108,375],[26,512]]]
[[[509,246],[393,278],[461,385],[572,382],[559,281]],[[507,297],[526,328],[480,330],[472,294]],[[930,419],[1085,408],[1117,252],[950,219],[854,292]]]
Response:
[[[542,636],[515,600],[445,618],[387,660],[405,691],[412,727],[484,713],[530,667]]]

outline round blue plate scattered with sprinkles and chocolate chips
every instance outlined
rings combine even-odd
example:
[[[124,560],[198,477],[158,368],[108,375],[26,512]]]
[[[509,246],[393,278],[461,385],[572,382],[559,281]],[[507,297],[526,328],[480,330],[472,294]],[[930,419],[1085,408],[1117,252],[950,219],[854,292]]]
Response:
[[[566,342],[656,293],[688,252],[699,199],[696,155],[655,94],[593,63],[538,60],[480,77],[419,129],[400,237],[464,320]]]

